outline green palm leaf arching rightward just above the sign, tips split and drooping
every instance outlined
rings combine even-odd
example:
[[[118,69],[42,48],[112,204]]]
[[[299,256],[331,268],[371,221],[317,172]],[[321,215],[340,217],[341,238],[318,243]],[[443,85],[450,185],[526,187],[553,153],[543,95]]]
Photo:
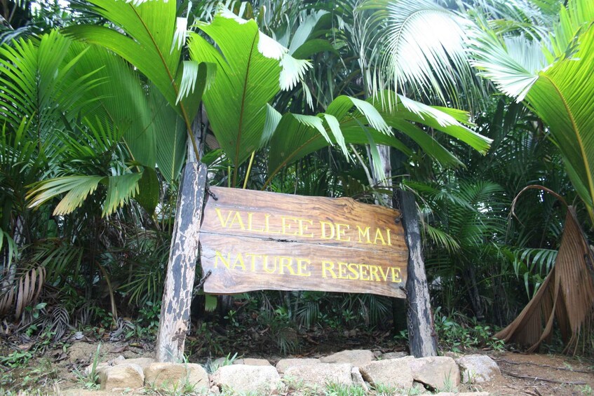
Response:
[[[400,95],[385,91],[386,100],[398,104],[396,109],[384,109],[382,102],[363,102],[351,97],[340,96],[328,105],[325,114],[319,114],[319,121],[313,123],[312,116],[304,118],[295,114],[285,114],[276,128],[270,142],[269,169],[271,180],[283,167],[303,158],[325,146],[344,142],[345,144],[384,144],[392,146],[410,156],[412,150],[395,137],[390,127],[403,132],[417,142],[429,156],[436,158],[442,165],[460,165],[460,161],[447,151],[436,139],[416,124],[421,123],[470,144],[484,153],[491,139],[478,135],[462,122],[468,123],[468,114],[464,111],[430,107]],[[353,107],[356,111],[351,112]],[[330,115],[337,123],[328,121]],[[304,122],[308,120],[309,122]],[[332,132],[332,135],[328,133]],[[341,146],[341,149],[343,147]],[[346,148],[343,149],[346,151]],[[379,154],[375,154],[379,156]],[[377,161],[376,161],[377,165]],[[382,172],[378,173],[379,175]]]

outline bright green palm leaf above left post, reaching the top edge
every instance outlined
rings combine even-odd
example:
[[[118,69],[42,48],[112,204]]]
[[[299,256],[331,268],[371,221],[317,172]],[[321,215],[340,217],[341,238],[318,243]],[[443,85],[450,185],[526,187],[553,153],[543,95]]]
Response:
[[[130,4],[117,0],[94,0],[91,3],[95,13],[113,22],[126,34],[108,27],[91,25],[68,27],[65,32],[104,46],[133,64],[149,78],[169,106],[182,117],[187,134],[192,136],[191,121],[198,111],[206,83],[203,78],[205,71],[202,70],[205,65],[191,70],[189,66],[181,66],[182,50],[178,45],[180,29],[177,25],[187,24],[187,21],[178,21],[176,2],[137,1]],[[190,86],[189,81],[194,85]],[[184,90],[180,90],[182,85]],[[168,131],[161,129],[161,133],[166,132]],[[180,142],[177,135],[175,142]],[[170,170],[178,168],[176,164],[180,162],[180,157],[176,153],[179,152],[168,151],[167,157],[160,155],[161,166],[167,168],[169,179]],[[163,165],[164,161],[173,165]],[[151,166],[149,163],[147,165]]]

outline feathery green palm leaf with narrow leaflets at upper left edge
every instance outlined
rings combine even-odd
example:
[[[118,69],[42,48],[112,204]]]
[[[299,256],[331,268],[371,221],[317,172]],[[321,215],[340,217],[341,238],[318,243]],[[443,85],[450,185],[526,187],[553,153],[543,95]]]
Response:
[[[97,100],[85,93],[100,83],[98,65],[85,74],[74,73],[86,50],[72,53],[71,46],[72,41],[53,31],[39,40],[21,39],[0,48],[0,117],[13,130],[27,118],[32,120],[31,132],[46,137]]]

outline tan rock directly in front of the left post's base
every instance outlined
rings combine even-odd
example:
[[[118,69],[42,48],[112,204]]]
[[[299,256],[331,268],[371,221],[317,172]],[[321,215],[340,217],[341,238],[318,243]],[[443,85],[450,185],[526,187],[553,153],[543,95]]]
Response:
[[[117,367],[117,366],[116,366]],[[208,374],[195,363],[151,363],[144,367],[144,386],[159,390],[210,388]]]

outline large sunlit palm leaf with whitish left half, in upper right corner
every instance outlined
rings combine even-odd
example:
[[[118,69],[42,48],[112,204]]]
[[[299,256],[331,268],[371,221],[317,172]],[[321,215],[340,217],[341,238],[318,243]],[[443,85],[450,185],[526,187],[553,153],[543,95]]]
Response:
[[[511,41],[504,41],[492,32],[480,34],[473,47],[483,76],[516,100],[526,100],[529,107],[549,125],[551,138],[560,149],[567,175],[580,198],[586,203],[590,219],[594,222],[594,127],[591,114],[594,102],[594,27],[587,18],[594,15],[594,4],[575,0],[562,11],[553,54],[548,43],[537,48],[526,41],[514,41],[516,46],[533,48],[530,51],[510,50]],[[571,37],[572,39],[569,39]],[[562,45],[566,48],[560,48]],[[535,54],[536,55],[531,55]],[[548,67],[538,69],[539,62],[525,58],[539,57],[548,60],[558,55]],[[522,60],[524,59],[524,60]],[[532,69],[525,65],[532,64]],[[546,63],[542,63],[544,66]],[[536,70],[535,70],[536,69]]]

